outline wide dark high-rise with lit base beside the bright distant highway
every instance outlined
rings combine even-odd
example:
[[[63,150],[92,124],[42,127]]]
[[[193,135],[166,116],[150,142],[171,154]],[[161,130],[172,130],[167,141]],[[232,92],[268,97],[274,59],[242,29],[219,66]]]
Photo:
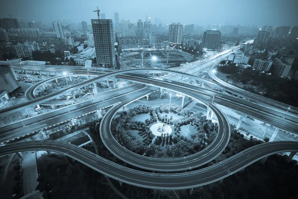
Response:
[[[222,33],[219,30],[207,30],[203,34],[200,51],[219,51]]]

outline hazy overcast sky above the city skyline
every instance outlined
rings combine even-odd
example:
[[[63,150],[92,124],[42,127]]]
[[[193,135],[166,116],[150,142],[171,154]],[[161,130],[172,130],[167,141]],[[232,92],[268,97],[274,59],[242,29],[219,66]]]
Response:
[[[106,18],[145,20],[146,15],[163,23],[241,25],[298,25],[298,0],[0,0],[0,18],[73,22],[97,18],[96,6]]]

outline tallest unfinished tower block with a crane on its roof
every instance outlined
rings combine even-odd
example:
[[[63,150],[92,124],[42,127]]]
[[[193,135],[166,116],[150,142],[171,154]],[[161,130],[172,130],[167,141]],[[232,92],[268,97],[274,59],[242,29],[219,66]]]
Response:
[[[116,12],[117,13],[117,12]],[[91,19],[97,66],[115,68],[115,34],[112,19]]]

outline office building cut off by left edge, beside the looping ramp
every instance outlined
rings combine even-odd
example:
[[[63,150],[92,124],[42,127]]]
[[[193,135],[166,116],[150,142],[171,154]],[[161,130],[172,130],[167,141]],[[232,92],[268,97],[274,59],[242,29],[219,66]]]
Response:
[[[0,67],[0,92],[7,91],[11,93],[18,88],[12,70],[8,66]]]

